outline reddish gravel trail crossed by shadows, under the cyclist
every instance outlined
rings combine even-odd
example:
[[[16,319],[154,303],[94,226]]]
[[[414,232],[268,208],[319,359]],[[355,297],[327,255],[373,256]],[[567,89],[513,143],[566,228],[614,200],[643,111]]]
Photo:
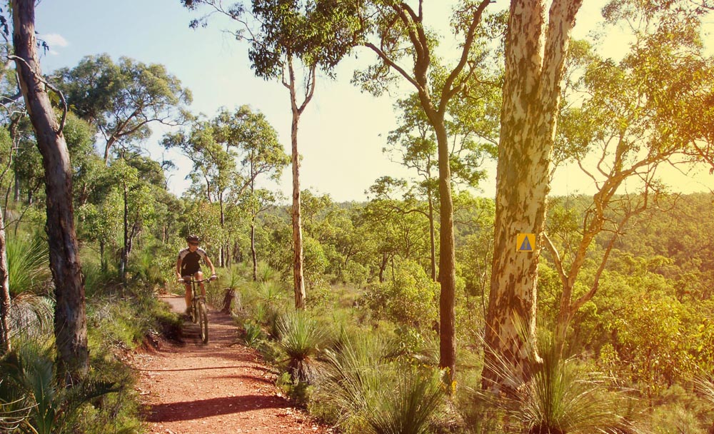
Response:
[[[164,297],[183,312],[182,297]],[[256,351],[235,345],[231,317],[211,310],[208,344],[198,325],[183,323],[183,345],[139,353],[137,390],[147,433],[331,433],[292,406]]]

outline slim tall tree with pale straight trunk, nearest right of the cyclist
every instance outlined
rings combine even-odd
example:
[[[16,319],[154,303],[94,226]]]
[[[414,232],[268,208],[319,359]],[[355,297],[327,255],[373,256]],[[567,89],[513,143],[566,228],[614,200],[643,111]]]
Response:
[[[253,20],[249,21],[246,7],[240,2],[228,8],[223,7],[221,0],[181,0],[181,3],[189,9],[203,4],[236,21],[239,28],[234,34],[237,39],[248,41],[248,58],[256,76],[266,80],[279,79],[288,89],[292,114],[293,290],[295,307],[304,308],[298,125],[313,98],[318,69],[331,75],[354,45],[354,30],[359,25],[356,5],[351,1],[336,0],[253,0]],[[206,16],[193,20],[191,26],[201,23],[206,23]],[[296,68],[300,66],[302,77],[296,74]],[[298,95],[300,92],[302,94]]]

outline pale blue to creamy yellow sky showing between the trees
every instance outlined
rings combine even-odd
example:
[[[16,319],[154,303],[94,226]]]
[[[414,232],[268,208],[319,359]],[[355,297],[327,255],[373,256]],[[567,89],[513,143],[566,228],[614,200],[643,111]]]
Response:
[[[227,0],[226,3],[231,2]],[[425,16],[434,16],[434,26],[448,25],[450,9],[446,1],[426,1]],[[578,15],[575,36],[597,29],[600,1],[586,1]],[[499,0],[496,7],[506,7]],[[429,7],[433,9],[429,9]],[[187,11],[180,0],[42,0],[36,9],[36,31],[51,47],[41,59],[44,73],[72,67],[91,54],[107,53],[114,61],[129,56],[146,64],[164,64],[193,94],[193,113],[214,116],[218,109],[234,109],[248,104],[261,111],[278,131],[286,153],[290,153],[291,111],[288,92],[278,81],[263,81],[253,75],[245,44],[224,29],[226,21],[212,20],[206,29],[189,29],[196,12]],[[623,40],[616,34],[603,50],[617,55]],[[360,61],[373,59],[366,51],[356,51]],[[354,57],[354,56],[353,56]],[[313,101],[301,116],[298,149],[301,161],[301,188],[328,193],[335,201],[363,201],[365,191],[379,177],[411,176],[400,164],[382,152],[386,136],[396,128],[392,105],[399,91],[376,98],[350,84],[355,59],[347,59],[337,69],[335,80],[318,77]],[[401,88],[407,89],[405,86]],[[156,159],[169,158],[178,169],[169,172],[169,189],[180,195],[188,187],[186,175],[191,164],[186,157],[166,152],[159,146],[164,129],[154,128],[147,152]],[[487,166],[489,178],[482,183],[483,196],[495,195],[496,165]],[[666,171],[665,181],[678,191],[709,191],[714,178],[708,170],[681,174]],[[286,168],[278,186],[286,197],[291,191],[291,171]],[[551,194],[588,193],[592,185],[577,168],[556,172]]]

